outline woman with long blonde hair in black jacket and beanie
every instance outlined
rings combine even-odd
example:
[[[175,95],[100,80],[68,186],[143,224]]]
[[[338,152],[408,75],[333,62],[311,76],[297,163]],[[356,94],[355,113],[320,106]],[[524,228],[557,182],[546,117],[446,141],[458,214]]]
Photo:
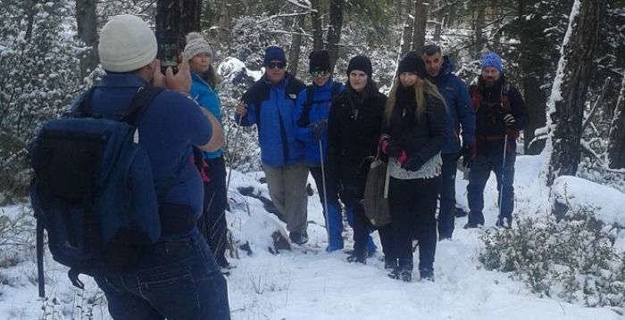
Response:
[[[391,277],[412,280],[412,237],[419,240],[419,274],[434,280],[437,184],[446,141],[445,99],[425,78],[416,53],[399,62],[399,80],[384,112],[380,146],[389,158],[388,202],[397,267]],[[412,231],[416,234],[412,234]]]

